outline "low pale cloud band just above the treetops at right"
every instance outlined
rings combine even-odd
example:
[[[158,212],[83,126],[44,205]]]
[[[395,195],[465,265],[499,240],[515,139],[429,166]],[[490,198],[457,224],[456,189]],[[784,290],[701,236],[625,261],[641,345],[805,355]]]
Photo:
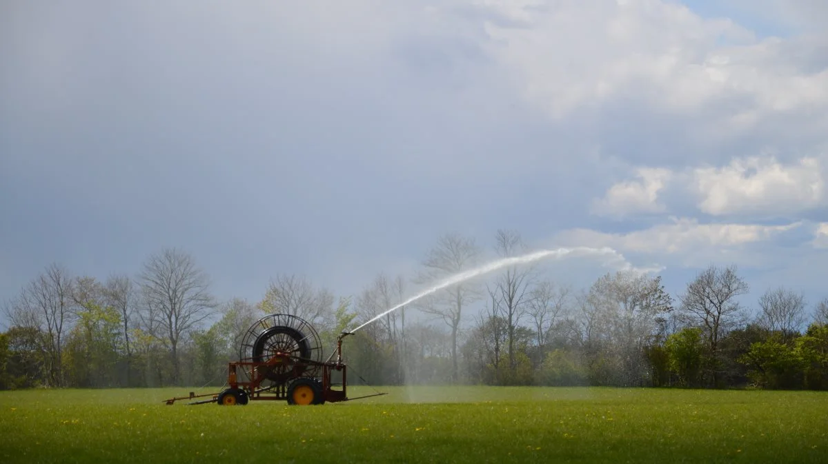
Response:
[[[696,270],[708,265],[737,265],[739,274],[751,285],[748,299],[778,285],[802,289],[809,299],[825,296],[822,276],[828,262],[828,222],[768,226],[671,218],[632,232],[570,229],[556,234],[554,242],[559,246],[612,247],[638,269],[662,275],[671,292],[682,291]],[[595,269],[584,272],[583,264],[574,267],[593,279],[599,273]],[[560,272],[558,278],[566,279],[566,273]],[[589,285],[588,279],[579,282]]]

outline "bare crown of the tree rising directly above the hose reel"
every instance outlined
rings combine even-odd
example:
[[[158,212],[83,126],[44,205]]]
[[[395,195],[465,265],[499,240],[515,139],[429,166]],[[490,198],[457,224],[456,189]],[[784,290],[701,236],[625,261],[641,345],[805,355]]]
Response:
[[[265,313],[291,314],[310,323],[320,323],[332,311],[334,295],[315,289],[303,275],[277,275],[270,281],[258,304]]]

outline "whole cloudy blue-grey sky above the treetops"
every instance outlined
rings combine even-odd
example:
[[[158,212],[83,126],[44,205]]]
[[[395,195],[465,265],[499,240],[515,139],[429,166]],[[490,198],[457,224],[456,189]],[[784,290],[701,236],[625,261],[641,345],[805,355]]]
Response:
[[[0,2],[0,302],[190,253],[219,299],[358,294],[437,237],[585,287],[828,297],[824,0]],[[416,287],[412,285],[413,294]]]

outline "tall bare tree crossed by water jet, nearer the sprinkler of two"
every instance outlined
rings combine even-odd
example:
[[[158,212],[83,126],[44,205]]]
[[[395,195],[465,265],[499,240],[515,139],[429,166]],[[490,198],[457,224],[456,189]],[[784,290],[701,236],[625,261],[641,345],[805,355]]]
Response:
[[[426,255],[422,265],[425,270],[416,279],[416,283],[444,280],[477,264],[480,256],[479,247],[473,238],[461,237],[456,233],[445,234],[437,240],[436,246]],[[451,328],[451,379],[458,380],[457,335],[460,332],[460,318],[463,308],[479,299],[479,289],[474,283],[460,283],[443,289],[426,299],[422,311],[441,318]]]

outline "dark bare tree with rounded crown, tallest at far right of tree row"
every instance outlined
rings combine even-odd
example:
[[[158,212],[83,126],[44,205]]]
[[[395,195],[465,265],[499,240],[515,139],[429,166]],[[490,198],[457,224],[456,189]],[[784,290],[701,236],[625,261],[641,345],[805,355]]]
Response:
[[[704,330],[711,361],[716,364],[720,357],[719,340],[736,324],[744,322],[744,309],[736,298],[748,291],[749,286],[739,277],[735,265],[724,268],[710,265],[679,296],[683,318],[686,323]],[[713,384],[718,385],[718,366],[709,366],[708,371]]]

